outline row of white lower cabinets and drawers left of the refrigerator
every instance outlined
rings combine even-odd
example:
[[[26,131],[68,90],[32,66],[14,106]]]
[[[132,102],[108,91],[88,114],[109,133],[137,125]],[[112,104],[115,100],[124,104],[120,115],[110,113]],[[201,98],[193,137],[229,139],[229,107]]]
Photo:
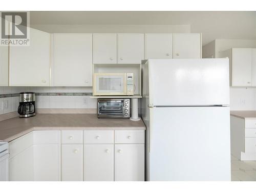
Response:
[[[144,181],[142,130],[33,131],[9,144],[11,181]]]

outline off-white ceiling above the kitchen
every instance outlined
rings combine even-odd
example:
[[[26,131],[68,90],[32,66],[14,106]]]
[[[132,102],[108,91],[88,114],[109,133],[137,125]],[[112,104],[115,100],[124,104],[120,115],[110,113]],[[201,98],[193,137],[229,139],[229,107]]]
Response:
[[[31,11],[31,25],[190,25],[203,45],[256,39],[256,11]]]

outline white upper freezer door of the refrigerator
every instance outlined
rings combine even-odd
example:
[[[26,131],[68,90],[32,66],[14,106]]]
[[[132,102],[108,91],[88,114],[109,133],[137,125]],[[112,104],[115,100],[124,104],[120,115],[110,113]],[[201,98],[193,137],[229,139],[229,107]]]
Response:
[[[229,63],[218,59],[150,59],[150,106],[229,105]]]

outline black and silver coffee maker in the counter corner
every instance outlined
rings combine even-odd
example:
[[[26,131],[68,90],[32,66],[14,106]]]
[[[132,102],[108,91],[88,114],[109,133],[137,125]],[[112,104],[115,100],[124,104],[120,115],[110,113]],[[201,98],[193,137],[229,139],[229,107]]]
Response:
[[[24,92],[19,94],[20,101],[18,114],[20,118],[35,116],[35,93]]]

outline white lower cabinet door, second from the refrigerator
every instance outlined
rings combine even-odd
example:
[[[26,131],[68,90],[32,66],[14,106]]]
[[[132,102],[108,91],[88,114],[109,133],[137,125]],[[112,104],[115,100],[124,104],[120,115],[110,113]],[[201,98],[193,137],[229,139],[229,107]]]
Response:
[[[114,181],[114,144],[84,145],[84,181]]]

